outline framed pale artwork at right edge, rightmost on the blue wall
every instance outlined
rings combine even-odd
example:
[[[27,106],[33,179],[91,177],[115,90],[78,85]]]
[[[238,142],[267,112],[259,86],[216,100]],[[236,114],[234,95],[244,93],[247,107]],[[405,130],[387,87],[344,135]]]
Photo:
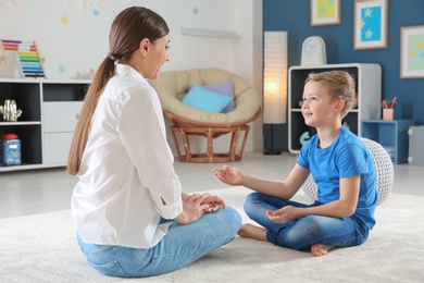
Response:
[[[424,77],[424,25],[400,28],[400,77]]]

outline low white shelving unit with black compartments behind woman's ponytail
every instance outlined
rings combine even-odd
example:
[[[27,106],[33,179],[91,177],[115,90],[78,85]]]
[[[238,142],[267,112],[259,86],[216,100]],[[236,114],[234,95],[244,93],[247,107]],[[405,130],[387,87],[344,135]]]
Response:
[[[13,99],[23,111],[17,122],[0,116],[0,135],[16,133],[22,145],[22,165],[0,165],[0,172],[66,165],[89,84],[83,79],[0,79],[0,103]]]

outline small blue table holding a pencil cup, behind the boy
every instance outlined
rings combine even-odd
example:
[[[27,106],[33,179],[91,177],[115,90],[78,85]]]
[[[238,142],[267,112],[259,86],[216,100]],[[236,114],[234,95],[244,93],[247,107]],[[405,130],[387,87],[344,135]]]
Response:
[[[389,153],[395,164],[408,162],[408,130],[414,125],[412,119],[400,120],[362,120],[361,136],[381,144]]]

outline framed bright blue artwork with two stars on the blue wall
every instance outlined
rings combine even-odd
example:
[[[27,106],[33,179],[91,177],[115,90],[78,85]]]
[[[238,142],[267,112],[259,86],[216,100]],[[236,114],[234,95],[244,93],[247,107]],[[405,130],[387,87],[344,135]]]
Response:
[[[387,47],[387,0],[354,0],[354,49]]]

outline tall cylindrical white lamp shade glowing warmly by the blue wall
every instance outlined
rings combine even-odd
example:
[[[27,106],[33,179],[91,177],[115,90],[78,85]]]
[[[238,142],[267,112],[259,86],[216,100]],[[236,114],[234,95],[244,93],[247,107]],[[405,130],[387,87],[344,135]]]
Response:
[[[263,123],[287,116],[287,32],[264,32]]]

